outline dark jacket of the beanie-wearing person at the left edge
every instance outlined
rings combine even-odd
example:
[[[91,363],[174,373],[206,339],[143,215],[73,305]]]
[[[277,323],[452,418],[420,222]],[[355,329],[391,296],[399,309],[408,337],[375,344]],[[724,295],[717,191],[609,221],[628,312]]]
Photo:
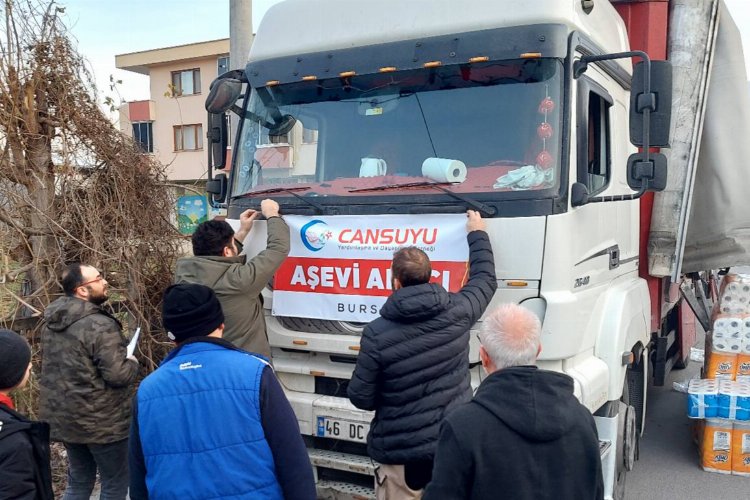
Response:
[[[52,500],[49,426],[0,403],[0,498]]]

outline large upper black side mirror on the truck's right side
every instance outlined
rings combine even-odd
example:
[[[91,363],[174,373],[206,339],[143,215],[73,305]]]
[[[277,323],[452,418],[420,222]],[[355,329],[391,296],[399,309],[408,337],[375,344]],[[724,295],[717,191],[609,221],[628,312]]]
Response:
[[[646,79],[651,91],[645,92]],[[648,123],[648,140],[643,124],[643,112],[651,111]],[[651,74],[643,61],[633,66],[630,89],[630,142],[634,146],[668,148],[672,117],[672,64],[669,61],[651,61]]]

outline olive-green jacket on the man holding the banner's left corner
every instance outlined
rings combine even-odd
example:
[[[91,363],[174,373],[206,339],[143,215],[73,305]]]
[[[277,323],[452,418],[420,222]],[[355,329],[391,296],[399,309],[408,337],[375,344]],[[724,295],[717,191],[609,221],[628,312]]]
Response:
[[[255,257],[184,257],[177,261],[175,283],[212,288],[224,311],[224,339],[271,359],[261,292],[289,254],[289,227],[271,217],[267,228],[266,249]]]

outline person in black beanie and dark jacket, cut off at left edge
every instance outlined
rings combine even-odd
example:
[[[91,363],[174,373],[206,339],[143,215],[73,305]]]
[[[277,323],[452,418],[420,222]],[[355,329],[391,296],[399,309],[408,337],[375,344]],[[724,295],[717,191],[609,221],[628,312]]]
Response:
[[[16,412],[10,399],[30,373],[26,339],[0,329],[0,498],[52,500],[49,426]]]

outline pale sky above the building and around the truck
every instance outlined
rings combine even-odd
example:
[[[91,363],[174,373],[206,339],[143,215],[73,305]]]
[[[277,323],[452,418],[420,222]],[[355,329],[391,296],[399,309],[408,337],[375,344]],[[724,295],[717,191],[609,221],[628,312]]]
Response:
[[[268,8],[278,1],[253,0],[254,31]],[[747,71],[750,0],[724,2],[740,29]],[[57,3],[65,7],[64,20],[78,41],[78,51],[91,64],[100,97],[109,96],[115,101],[149,98],[148,77],[116,69],[116,54],[229,37],[229,0],[57,0]],[[122,81],[117,92],[109,89],[110,75]]]

